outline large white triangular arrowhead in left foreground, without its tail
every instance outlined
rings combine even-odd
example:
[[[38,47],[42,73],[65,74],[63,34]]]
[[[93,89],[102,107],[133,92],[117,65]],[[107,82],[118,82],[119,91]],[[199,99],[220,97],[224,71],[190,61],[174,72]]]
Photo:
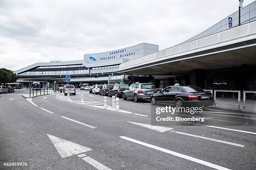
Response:
[[[51,142],[54,144],[56,150],[59,152],[59,155],[61,155],[61,158],[77,155],[79,153],[84,153],[89,150],[92,150],[91,148],[87,148],[85,146],[58,138],[56,136],[49,134],[47,135]]]

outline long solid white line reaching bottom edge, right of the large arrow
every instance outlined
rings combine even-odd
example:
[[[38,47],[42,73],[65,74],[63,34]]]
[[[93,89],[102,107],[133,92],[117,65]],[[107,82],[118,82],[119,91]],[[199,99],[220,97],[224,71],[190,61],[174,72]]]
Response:
[[[193,161],[195,163],[199,163],[199,164],[202,164],[202,165],[205,165],[205,166],[208,166],[208,167],[211,167],[211,168],[215,168],[217,170],[230,170],[228,168],[224,168],[224,167],[221,167],[219,165],[215,165],[215,164],[212,164],[212,163],[208,163],[204,160],[200,160],[200,159],[197,159],[197,158],[193,158],[193,157],[190,157],[190,156],[187,156],[187,155],[183,155],[181,153],[177,153],[177,152],[174,152],[172,150],[167,150],[167,149],[164,149],[164,148],[160,148],[158,146],[155,146],[155,145],[151,145],[151,144],[148,144],[148,143],[144,143],[144,142],[141,142],[141,141],[138,141],[138,140],[135,140],[135,139],[132,139],[132,138],[128,138],[128,137],[125,137],[125,136],[120,136],[120,138],[122,139],[125,139],[125,140],[129,140],[131,142],[134,142],[134,143],[138,143],[140,145],[143,145],[143,146],[146,146],[148,148],[153,148],[155,150],[159,150],[161,152],[164,152],[164,153],[169,153],[171,155],[174,155],[174,156],[177,156],[179,158],[183,158],[183,159],[186,159],[186,160],[190,160],[190,161]]]

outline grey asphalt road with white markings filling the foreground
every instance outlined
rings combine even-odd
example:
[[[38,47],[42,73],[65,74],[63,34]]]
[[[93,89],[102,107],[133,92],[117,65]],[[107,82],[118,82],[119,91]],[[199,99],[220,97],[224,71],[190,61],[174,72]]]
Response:
[[[206,108],[202,114],[216,125],[161,128],[150,126],[149,101],[120,99],[115,111],[112,98],[105,110],[103,96],[88,91],[77,90],[70,102],[55,94],[26,100],[27,92],[0,94],[0,169],[256,169],[256,127],[234,123],[253,124],[256,115]]]

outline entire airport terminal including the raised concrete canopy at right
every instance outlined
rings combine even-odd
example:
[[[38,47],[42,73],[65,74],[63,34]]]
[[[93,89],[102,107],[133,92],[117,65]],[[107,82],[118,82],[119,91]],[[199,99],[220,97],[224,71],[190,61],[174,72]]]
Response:
[[[238,20],[235,11],[189,40],[160,51],[158,45],[141,43],[86,54],[84,60],[39,62],[15,73],[18,82],[24,83],[65,82],[66,75],[71,75],[77,87],[123,75],[123,80],[152,82],[157,88],[179,83],[203,89],[256,90],[256,1],[241,8],[241,25]]]

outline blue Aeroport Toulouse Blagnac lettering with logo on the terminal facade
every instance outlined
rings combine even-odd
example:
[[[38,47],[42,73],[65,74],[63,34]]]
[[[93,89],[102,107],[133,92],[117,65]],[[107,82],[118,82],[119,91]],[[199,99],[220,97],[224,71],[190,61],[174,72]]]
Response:
[[[127,56],[131,56],[131,55],[136,55],[136,52],[135,51],[126,52],[126,49],[116,50],[116,51],[109,52],[108,57],[99,57],[99,60],[112,60],[117,57],[127,57]],[[89,59],[90,61],[97,61],[97,54],[90,55],[89,57],[90,57],[90,59]]]

